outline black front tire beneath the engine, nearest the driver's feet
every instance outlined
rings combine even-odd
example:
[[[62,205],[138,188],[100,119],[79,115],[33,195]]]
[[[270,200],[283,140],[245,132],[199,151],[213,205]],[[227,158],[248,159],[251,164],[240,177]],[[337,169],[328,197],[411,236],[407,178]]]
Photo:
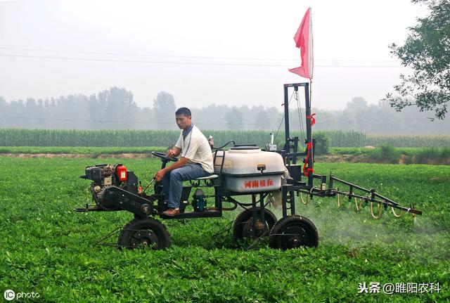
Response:
[[[171,244],[166,226],[153,218],[133,219],[124,226],[117,240],[120,249],[151,247],[154,250],[164,250]]]

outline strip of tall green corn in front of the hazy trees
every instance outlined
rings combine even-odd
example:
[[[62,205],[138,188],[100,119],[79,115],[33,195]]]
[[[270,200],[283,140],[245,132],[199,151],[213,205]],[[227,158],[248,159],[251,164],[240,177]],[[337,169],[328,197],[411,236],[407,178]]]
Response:
[[[264,146],[270,141],[268,131],[208,131],[205,136],[214,137],[214,146],[221,146],[228,141],[239,144],[255,143]],[[363,147],[390,144],[395,147],[448,147],[450,136],[379,136],[368,135],[359,131],[316,131],[325,134],[331,147]],[[314,136],[313,134],[313,136]],[[293,131],[291,136],[304,136]],[[179,136],[174,130],[60,130],[60,129],[0,129],[0,146],[170,146]],[[276,135],[275,143],[283,146],[284,133]]]

